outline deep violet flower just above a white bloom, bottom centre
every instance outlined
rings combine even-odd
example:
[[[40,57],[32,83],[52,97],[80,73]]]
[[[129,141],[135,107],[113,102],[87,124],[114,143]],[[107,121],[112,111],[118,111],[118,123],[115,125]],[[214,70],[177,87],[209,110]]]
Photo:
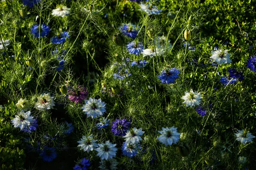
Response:
[[[125,136],[126,131],[131,125],[127,119],[116,119],[112,122],[112,124],[111,132],[113,132],[114,135],[118,135],[120,137]]]

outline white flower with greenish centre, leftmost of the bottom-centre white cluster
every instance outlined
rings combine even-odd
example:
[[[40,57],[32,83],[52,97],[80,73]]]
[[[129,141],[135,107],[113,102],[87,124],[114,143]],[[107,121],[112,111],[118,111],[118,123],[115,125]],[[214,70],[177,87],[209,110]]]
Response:
[[[87,151],[87,153],[89,153],[90,150],[94,150],[98,146],[98,144],[95,143],[97,140],[93,139],[93,135],[88,137],[82,136],[80,140],[81,141],[77,141],[79,143],[78,147],[80,146],[80,150],[83,149],[84,151]]]

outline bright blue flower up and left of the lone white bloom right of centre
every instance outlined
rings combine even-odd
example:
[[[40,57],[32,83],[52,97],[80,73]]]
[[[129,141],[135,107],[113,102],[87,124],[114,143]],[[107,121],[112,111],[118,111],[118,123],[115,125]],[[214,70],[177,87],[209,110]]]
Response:
[[[164,69],[161,71],[161,74],[158,76],[158,79],[162,83],[175,83],[175,80],[179,77],[178,74],[180,74],[179,69],[176,68],[169,68]]]

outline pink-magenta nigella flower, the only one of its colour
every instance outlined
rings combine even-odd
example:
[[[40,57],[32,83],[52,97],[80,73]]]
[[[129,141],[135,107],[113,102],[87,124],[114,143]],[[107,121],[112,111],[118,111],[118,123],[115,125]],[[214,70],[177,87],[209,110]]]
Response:
[[[87,98],[87,89],[84,86],[78,85],[77,88],[73,87],[67,91],[68,98],[71,102],[81,103]]]

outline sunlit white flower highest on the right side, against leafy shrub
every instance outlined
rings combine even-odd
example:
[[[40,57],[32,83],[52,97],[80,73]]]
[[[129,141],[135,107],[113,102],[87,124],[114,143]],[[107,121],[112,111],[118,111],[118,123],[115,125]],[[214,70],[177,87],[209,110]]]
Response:
[[[227,53],[228,50],[217,50],[217,51],[212,51],[212,56],[210,57],[211,59],[214,59],[215,62],[218,64],[222,63],[230,63],[232,62],[230,60],[230,54]]]

